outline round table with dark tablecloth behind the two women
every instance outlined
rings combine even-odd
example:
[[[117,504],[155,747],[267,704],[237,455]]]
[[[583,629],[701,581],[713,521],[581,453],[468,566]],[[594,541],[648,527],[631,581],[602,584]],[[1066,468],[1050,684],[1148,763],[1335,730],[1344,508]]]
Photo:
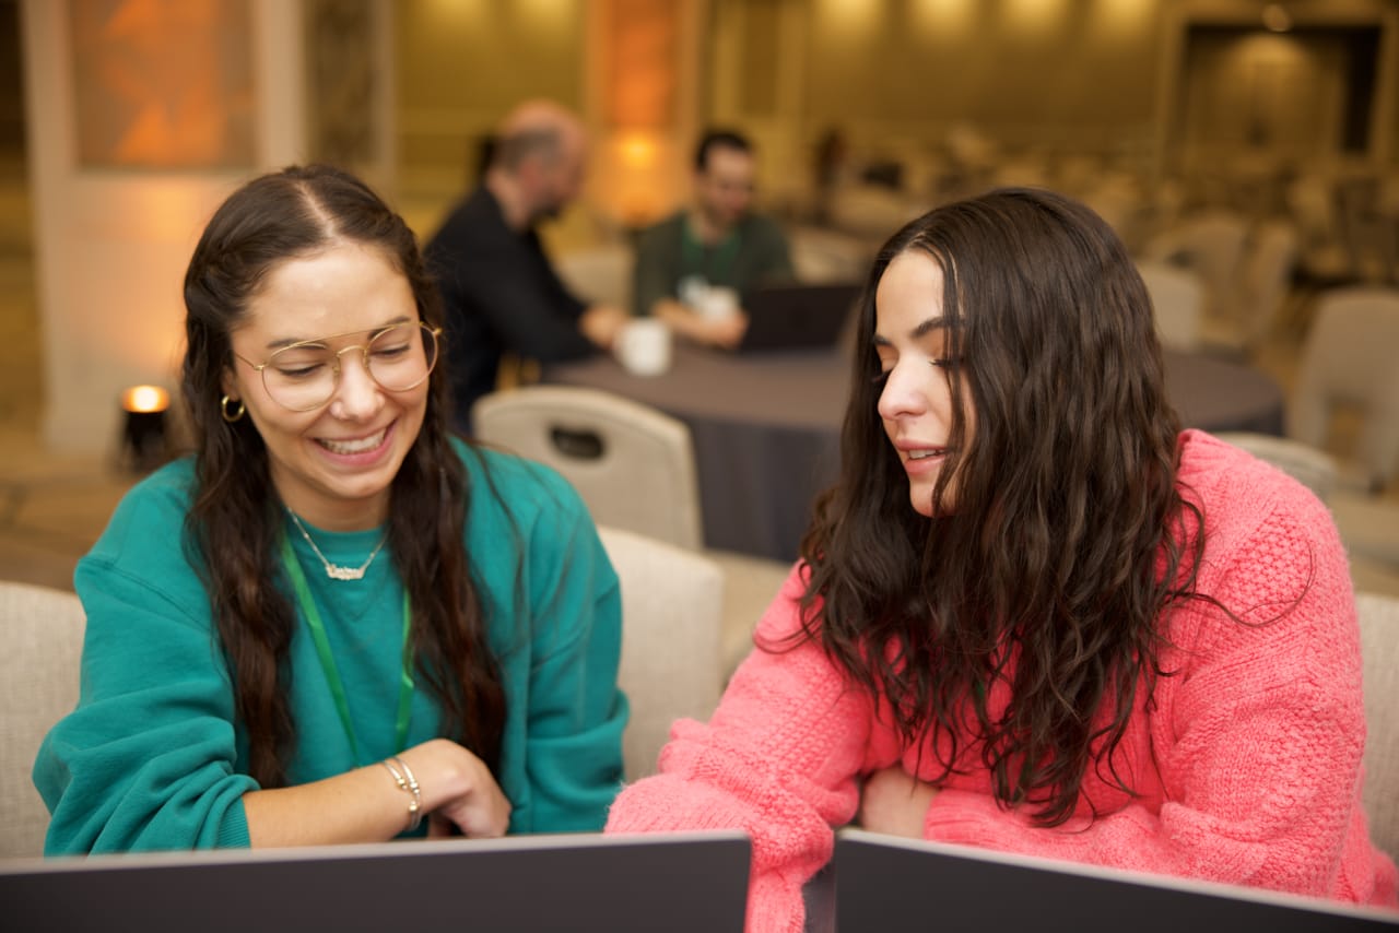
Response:
[[[838,474],[849,368],[834,351],[741,355],[677,343],[660,376],[635,376],[599,355],[551,364],[543,379],[613,392],[683,421],[705,546],[790,561],[813,499]],[[1283,432],[1283,392],[1255,369],[1168,350],[1165,383],[1185,427]]]

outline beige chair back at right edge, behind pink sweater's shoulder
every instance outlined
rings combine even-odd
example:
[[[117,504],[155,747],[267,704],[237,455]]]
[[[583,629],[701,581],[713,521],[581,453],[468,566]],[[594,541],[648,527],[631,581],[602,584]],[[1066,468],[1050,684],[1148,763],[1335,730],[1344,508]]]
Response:
[[[1399,859],[1399,599],[1357,593],[1365,683],[1370,838]]]

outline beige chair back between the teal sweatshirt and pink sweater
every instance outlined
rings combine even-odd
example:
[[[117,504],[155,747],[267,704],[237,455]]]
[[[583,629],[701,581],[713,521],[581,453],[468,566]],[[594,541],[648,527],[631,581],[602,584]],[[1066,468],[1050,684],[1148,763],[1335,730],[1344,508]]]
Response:
[[[627,781],[656,771],[670,723],[708,719],[719,702],[723,575],[701,554],[599,526],[621,582],[621,667],[631,704],[623,734]]]

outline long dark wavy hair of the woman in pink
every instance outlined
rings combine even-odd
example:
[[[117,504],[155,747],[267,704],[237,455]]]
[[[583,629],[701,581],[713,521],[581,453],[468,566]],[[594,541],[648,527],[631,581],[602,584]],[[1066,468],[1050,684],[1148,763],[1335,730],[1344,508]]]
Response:
[[[911,250],[943,270],[960,359],[932,519],[909,506],[876,411],[876,290]],[[888,699],[901,739],[932,747],[942,778],[977,750],[996,799],[1044,825],[1074,814],[1090,768],[1130,795],[1114,753],[1165,674],[1163,614],[1196,596],[1203,548],[1130,257],[1081,204],[990,192],[898,231],[859,323],[841,480],[802,543],[804,636]],[[989,702],[997,687],[1010,691],[1003,712]]]

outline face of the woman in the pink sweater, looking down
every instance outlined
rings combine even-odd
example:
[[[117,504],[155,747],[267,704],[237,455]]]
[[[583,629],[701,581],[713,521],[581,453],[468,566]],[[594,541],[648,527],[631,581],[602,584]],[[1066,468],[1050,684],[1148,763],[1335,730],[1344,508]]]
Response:
[[[874,292],[874,352],[884,387],[879,415],[908,474],[914,511],[932,518],[933,487],[947,460],[953,434],[953,383],[958,361],[949,355],[943,318],[943,270],[922,250],[890,262]],[[965,394],[965,393],[964,393]],[[964,442],[972,436],[967,413]],[[949,483],[943,505],[956,501]]]

